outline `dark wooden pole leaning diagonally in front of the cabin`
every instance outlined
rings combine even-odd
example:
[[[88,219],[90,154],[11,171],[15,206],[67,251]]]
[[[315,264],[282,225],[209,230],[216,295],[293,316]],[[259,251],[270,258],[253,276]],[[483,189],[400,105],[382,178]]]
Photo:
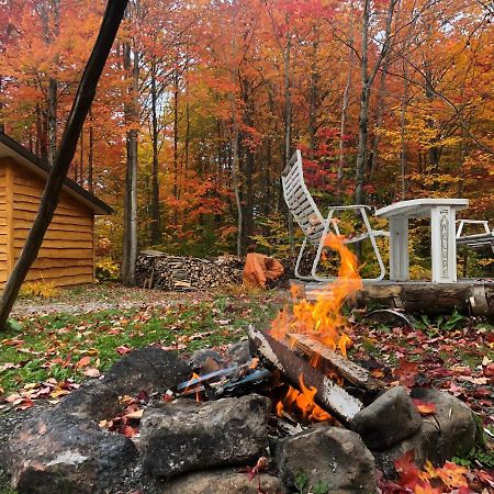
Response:
[[[36,218],[0,299],[0,330],[5,329],[10,311],[27,276],[27,271],[37,257],[46,231],[52,223],[53,215],[58,205],[64,180],[76,153],[77,141],[82,130],[82,124],[94,99],[98,81],[103,71],[113,41],[115,40],[126,5],[127,0],[109,0],[106,4],[100,33],[80,79],[76,98],[60,139],[60,145],[55,155],[45,190],[43,191]]]

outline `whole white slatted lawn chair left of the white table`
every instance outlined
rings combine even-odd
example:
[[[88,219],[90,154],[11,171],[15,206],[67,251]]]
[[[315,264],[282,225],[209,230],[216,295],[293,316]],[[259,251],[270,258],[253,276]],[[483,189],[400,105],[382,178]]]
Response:
[[[319,210],[317,209],[316,203],[314,202],[314,199],[311,195],[311,192],[308,191],[305,184],[302,169],[302,155],[299,149],[293,154],[292,158],[290,159],[289,164],[283,170],[281,175],[281,183],[283,186],[283,194],[287,205],[305,235],[304,242],[302,244],[295,263],[296,278],[300,278],[301,280],[311,280],[311,281],[314,280],[328,281],[334,279],[333,277],[324,277],[317,274],[317,267],[319,265],[321,256],[323,254],[324,239],[328,234],[328,232],[330,231],[330,228],[333,228],[337,235],[340,235],[338,224],[337,222],[333,221],[333,216],[335,212],[344,210],[352,210],[355,212],[360,213],[363,225],[366,227],[366,231],[362,234],[349,237],[345,240],[345,243],[353,244],[356,242],[361,242],[366,238],[369,238],[379,263],[380,268],[379,277],[372,279],[363,279],[362,281],[364,282],[379,281],[384,278],[385,268],[378,248],[378,244],[375,243],[375,237],[389,236],[389,233],[372,228],[369,218],[367,216],[367,210],[370,210],[368,205],[359,204],[359,205],[330,206],[326,218],[323,217]],[[317,254],[312,265],[311,276],[302,276],[299,272],[299,267],[305,247],[307,246],[307,242],[317,248]]]

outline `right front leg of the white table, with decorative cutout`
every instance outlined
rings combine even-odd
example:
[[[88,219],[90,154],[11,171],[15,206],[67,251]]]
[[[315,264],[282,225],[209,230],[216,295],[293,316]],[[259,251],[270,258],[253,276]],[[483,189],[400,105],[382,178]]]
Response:
[[[454,209],[435,206],[430,210],[430,251],[433,282],[457,282],[457,243]]]

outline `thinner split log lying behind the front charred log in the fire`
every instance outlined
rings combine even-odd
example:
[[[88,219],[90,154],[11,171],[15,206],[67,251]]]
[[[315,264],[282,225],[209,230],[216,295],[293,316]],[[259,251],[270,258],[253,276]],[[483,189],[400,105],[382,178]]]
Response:
[[[372,378],[367,369],[330,350],[313,336],[291,334],[289,338],[308,358],[312,358],[314,355],[319,356],[321,364],[325,371],[336,370],[339,375],[351,382],[351,384],[369,391],[378,391],[385,388],[381,381]]]

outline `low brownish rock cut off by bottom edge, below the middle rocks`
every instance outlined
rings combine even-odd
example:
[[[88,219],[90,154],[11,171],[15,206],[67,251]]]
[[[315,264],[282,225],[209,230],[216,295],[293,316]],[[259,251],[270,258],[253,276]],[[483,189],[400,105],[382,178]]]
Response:
[[[260,491],[258,487],[260,486]],[[237,470],[212,470],[193,472],[170,482],[159,494],[279,494],[283,492],[281,481],[265,473],[250,480],[247,473]]]

